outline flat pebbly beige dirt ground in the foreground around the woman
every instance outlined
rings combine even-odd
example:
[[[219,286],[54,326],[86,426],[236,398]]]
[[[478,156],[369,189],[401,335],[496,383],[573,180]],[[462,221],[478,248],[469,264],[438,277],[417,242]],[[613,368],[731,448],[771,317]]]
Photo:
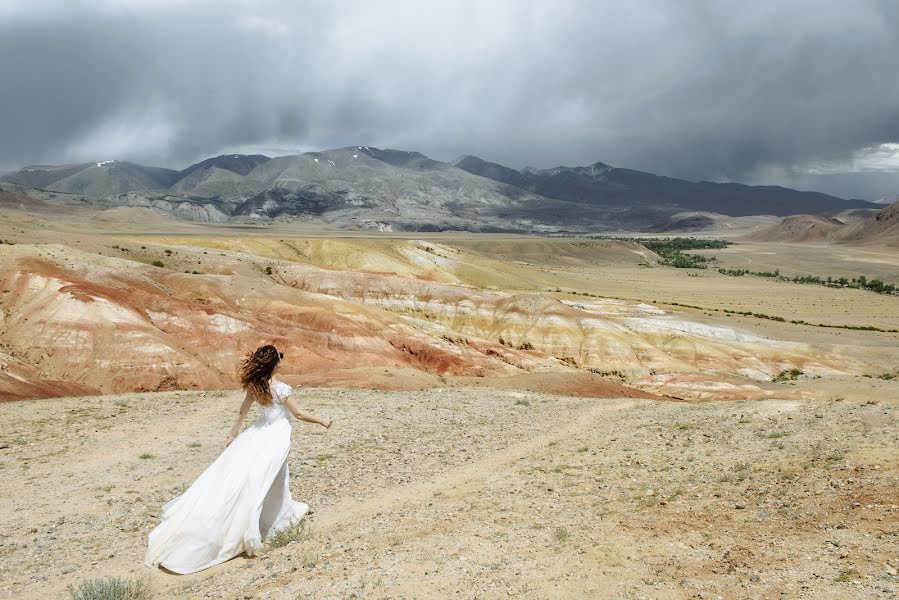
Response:
[[[298,388],[335,419],[294,424],[305,535],[189,576],[144,567],[147,535],[237,392],[7,403],[0,596],[124,576],[155,598],[894,598],[899,384],[880,383],[702,403]]]

